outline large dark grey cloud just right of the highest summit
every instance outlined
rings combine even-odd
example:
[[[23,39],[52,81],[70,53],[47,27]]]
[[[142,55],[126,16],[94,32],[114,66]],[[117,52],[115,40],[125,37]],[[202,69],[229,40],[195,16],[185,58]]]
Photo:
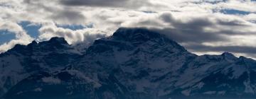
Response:
[[[164,33],[177,42],[215,42],[225,41],[222,33],[208,33],[203,28],[214,27],[215,23],[206,18],[195,18],[186,23],[174,19],[171,14],[164,13],[160,16],[161,20],[170,23],[174,28],[154,29],[159,33]]]

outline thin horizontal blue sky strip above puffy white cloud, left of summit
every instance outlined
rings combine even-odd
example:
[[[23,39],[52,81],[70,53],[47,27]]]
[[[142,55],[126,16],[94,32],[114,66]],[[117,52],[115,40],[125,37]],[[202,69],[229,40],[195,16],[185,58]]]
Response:
[[[93,28],[93,23],[90,23],[88,25],[58,25],[58,28],[66,28],[70,30],[82,30],[84,28]]]

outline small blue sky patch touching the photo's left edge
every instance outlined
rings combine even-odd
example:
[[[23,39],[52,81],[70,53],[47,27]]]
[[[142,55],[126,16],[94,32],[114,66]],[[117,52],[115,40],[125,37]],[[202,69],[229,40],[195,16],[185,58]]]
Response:
[[[4,42],[9,42],[16,38],[15,33],[11,33],[8,30],[0,30],[0,45]]]

